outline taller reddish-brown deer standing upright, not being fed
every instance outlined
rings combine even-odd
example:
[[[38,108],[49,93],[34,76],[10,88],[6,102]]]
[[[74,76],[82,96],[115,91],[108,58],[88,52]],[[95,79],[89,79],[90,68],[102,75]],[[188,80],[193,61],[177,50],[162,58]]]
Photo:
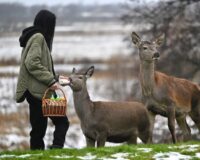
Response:
[[[184,140],[191,137],[186,115],[190,115],[200,132],[200,87],[191,81],[155,71],[155,60],[159,58],[157,49],[163,40],[164,35],[152,42],[142,41],[132,32],[132,42],[139,49],[142,100],[149,110],[151,131],[153,132],[155,115],[165,116],[168,118],[168,127],[175,143],[175,119],[182,130]]]

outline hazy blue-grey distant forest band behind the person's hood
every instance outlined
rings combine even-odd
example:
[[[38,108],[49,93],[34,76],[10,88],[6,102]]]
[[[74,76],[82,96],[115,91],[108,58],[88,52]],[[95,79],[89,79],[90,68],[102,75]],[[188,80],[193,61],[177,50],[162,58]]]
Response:
[[[0,4],[0,32],[18,31],[32,23],[35,14],[41,9],[49,9],[57,16],[58,25],[73,22],[118,21],[123,7],[113,5],[34,5],[24,6],[20,3]]]

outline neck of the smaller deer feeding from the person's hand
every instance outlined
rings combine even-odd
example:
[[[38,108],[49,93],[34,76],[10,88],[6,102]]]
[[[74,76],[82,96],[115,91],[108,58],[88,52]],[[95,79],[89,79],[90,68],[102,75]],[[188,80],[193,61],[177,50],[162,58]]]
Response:
[[[81,121],[90,117],[92,112],[93,102],[90,100],[90,96],[87,91],[87,87],[84,86],[81,91],[73,92],[74,105],[76,113]]]

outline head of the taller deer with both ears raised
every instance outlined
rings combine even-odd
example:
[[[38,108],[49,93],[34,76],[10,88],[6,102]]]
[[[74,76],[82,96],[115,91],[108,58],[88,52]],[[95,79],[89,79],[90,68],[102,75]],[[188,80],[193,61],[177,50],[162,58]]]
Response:
[[[158,48],[164,41],[164,34],[157,37],[153,41],[142,41],[140,37],[132,32],[131,34],[132,42],[139,49],[139,56],[141,61],[153,62],[160,57],[160,53],[158,52]]]

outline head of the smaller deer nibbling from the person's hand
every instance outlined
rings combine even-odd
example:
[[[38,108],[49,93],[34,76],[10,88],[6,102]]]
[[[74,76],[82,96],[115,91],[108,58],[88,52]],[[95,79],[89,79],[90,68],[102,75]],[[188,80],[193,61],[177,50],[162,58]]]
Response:
[[[86,86],[86,81],[94,73],[94,66],[87,69],[85,73],[78,73],[75,68],[72,70],[72,74],[69,76],[69,86],[73,91],[79,92]]]

